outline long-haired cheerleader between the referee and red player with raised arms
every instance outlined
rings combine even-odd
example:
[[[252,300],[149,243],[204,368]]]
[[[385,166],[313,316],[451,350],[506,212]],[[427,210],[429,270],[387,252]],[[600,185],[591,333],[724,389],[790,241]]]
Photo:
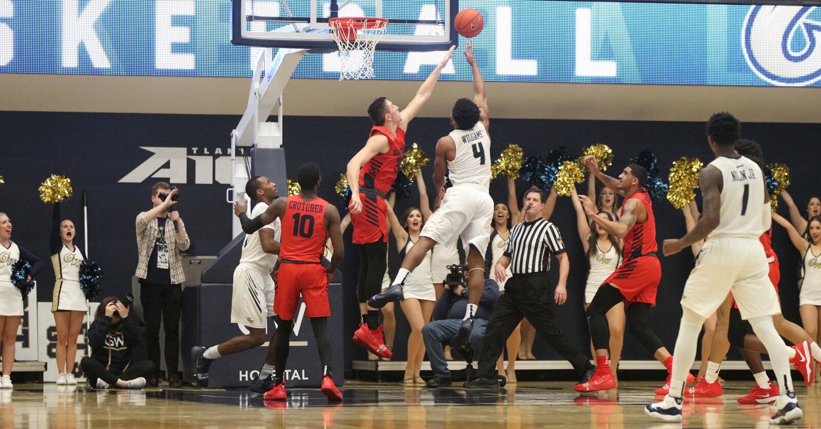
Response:
[[[579,230],[581,247],[585,250],[589,266],[587,283],[585,284],[585,311],[587,311],[587,307],[590,306],[590,302],[593,302],[593,297],[596,296],[599,286],[621,264],[621,240],[599,227],[599,224],[587,222],[585,209],[581,206],[579,194],[576,193],[575,187],[571,193],[571,201],[573,201],[573,208],[576,209],[576,227]],[[612,214],[604,210],[599,210],[598,215],[611,222],[615,219]],[[610,327],[610,366],[613,368],[613,374],[616,375],[618,361],[621,358],[621,346],[624,341],[626,321],[624,302],[616,304],[605,316]],[[595,356],[596,351],[593,348],[592,341],[590,342],[590,350],[591,356]]]

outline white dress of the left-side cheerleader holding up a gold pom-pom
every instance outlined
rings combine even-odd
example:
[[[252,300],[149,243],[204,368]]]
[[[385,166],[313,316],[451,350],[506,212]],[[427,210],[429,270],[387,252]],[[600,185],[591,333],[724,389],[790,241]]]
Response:
[[[52,293],[52,311],[88,311],[85,293],[80,288],[80,264],[85,260],[80,247],[71,251],[65,244],[52,255],[54,266],[54,292]]]

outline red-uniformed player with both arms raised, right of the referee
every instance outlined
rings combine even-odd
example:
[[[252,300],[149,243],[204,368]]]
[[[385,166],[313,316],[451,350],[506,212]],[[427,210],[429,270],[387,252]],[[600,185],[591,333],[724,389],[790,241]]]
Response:
[[[657,389],[656,394],[666,394],[672,368],[672,355],[647,325],[647,315],[656,304],[656,290],[662,277],[661,264],[656,251],[656,223],[650,196],[644,190],[647,182],[647,170],[638,164],[630,164],[619,178],[611,178],[599,170],[594,157],[585,158],[585,162],[606,187],[625,196],[621,206],[621,219],[613,222],[599,217],[593,201],[587,196],[579,196],[585,213],[596,224],[608,233],[624,240],[622,263],[604,280],[590,306],[587,307],[587,320],[590,325],[590,336],[593,348],[596,349],[596,372],[586,383],[576,385],[578,392],[608,390],[617,387],[616,379],[610,371],[609,351],[610,330],[605,314],[617,303],[626,302],[627,327],[633,338],[653,357],[667,367],[667,383]],[[690,375],[695,380],[695,377]],[[691,382],[690,379],[688,381]],[[663,393],[659,393],[663,391]]]

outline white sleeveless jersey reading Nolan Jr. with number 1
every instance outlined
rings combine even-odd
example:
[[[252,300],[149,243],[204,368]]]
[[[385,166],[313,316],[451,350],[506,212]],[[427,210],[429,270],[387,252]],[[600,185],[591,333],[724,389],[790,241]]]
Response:
[[[759,238],[764,233],[764,179],[759,164],[744,156],[719,156],[709,165],[721,171],[721,219],[716,237]],[[766,205],[769,210],[769,205]]]

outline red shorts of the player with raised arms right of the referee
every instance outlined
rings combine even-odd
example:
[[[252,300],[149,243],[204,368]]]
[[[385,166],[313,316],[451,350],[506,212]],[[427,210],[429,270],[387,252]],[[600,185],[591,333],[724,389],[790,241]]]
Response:
[[[619,265],[602,284],[615,284],[628,305],[631,302],[646,302],[655,306],[656,291],[661,279],[662,265],[658,258],[639,256]]]

